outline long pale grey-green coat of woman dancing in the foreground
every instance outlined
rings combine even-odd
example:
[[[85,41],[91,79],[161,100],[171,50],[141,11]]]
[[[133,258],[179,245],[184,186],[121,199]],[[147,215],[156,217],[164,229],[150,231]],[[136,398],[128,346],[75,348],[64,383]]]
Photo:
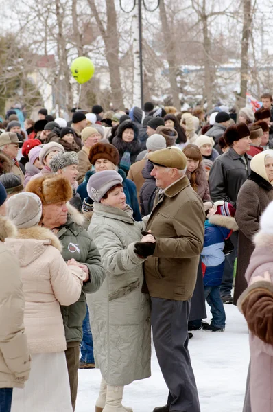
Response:
[[[150,376],[150,298],[141,292],[143,262],[134,253],[143,222],[126,211],[94,203],[88,233],[102,256],[106,279],[87,297],[95,364],[108,385],[128,385]]]

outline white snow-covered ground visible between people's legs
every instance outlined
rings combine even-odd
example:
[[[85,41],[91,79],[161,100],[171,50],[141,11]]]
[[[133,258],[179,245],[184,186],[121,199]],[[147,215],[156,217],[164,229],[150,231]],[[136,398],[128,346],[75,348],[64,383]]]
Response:
[[[202,412],[239,412],[244,403],[248,370],[248,328],[236,306],[224,305],[225,332],[193,332],[189,352]],[[207,308],[207,314],[210,314]],[[95,412],[99,393],[98,369],[79,370],[76,412]],[[167,400],[167,387],[152,347],[152,376],[124,389],[123,404],[134,412],[152,412]]]

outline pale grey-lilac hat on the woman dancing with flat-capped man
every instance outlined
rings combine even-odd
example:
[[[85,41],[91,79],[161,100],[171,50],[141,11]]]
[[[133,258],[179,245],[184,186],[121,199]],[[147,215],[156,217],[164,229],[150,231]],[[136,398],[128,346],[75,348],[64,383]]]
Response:
[[[103,196],[115,185],[122,185],[122,177],[115,170],[94,173],[88,180],[87,193],[94,202],[99,203]]]

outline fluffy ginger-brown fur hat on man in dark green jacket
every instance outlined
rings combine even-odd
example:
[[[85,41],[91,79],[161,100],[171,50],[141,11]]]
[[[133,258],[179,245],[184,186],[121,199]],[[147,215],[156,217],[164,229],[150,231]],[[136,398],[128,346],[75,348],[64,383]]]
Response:
[[[64,176],[41,176],[27,183],[25,192],[39,196],[43,205],[67,202],[73,196],[72,187]]]

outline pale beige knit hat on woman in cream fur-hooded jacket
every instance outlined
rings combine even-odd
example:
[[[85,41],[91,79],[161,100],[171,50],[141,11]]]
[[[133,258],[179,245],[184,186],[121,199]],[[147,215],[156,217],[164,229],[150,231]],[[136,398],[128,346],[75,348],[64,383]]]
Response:
[[[7,217],[18,229],[38,225],[42,216],[42,202],[34,193],[14,194],[7,202]]]

